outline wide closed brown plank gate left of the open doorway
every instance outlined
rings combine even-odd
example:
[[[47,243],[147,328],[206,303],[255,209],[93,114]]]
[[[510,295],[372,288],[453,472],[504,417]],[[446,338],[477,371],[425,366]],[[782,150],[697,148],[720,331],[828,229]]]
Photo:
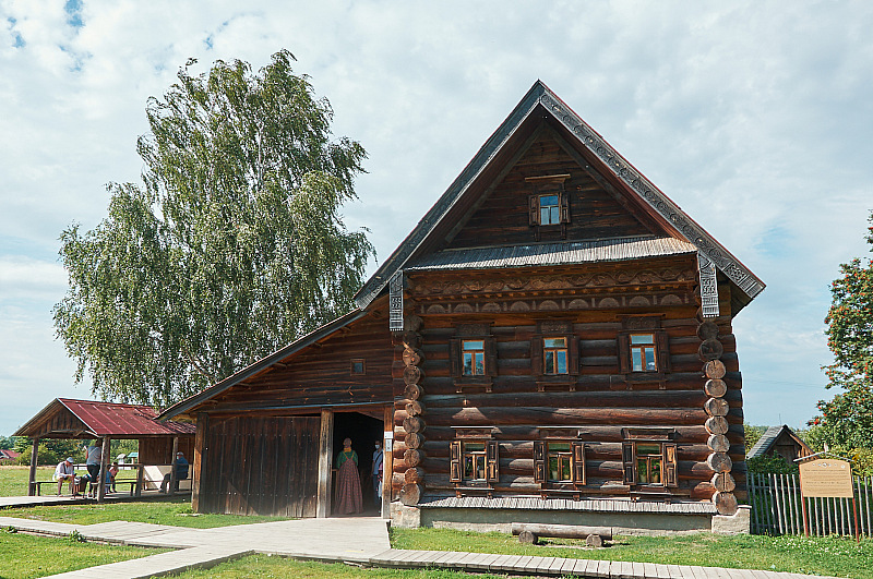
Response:
[[[203,512],[314,517],[319,417],[211,419]]]

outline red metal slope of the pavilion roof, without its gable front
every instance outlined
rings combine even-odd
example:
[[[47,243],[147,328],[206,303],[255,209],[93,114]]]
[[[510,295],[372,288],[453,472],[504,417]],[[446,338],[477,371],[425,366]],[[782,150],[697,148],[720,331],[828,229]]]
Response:
[[[70,398],[58,398],[58,401],[97,436],[178,435],[195,432],[194,424],[156,421],[158,412],[150,406]]]

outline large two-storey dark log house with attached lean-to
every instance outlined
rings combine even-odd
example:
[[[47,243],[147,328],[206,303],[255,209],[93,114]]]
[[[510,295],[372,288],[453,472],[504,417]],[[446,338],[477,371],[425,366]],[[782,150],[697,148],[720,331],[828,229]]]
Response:
[[[198,420],[200,510],[330,514],[359,412],[397,523],[685,528],[744,497],[731,323],[763,289],[537,82],[355,312],[163,417]]]

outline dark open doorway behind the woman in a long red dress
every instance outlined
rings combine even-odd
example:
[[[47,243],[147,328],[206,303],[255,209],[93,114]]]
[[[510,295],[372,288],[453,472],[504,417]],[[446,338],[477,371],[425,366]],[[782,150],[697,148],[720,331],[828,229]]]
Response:
[[[382,410],[380,410],[381,412]],[[361,480],[364,515],[378,515],[382,508],[382,503],[376,499],[373,492],[372,471],[375,443],[382,444],[384,430],[384,422],[381,419],[361,414],[360,412],[334,413],[333,466],[336,466],[336,457],[343,451],[343,441],[351,438],[351,449],[358,454],[358,473]],[[335,480],[331,487],[335,494]]]

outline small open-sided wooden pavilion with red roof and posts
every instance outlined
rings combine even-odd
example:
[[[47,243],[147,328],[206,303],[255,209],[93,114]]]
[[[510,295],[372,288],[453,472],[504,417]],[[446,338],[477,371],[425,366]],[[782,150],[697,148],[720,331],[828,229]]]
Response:
[[[105,495],[105,475],[112,439],[137,439],[142,465],[171,465],[177,451],[193,457],[194,424],[155,420],[157,411],[150,406],[56,398],[15,432],[14,436],[33,438],[31,475],[27,494],[36,490],[36,465],[39,441],[44,438],[97,438],[103,446],[100,485],[97,499]]]

